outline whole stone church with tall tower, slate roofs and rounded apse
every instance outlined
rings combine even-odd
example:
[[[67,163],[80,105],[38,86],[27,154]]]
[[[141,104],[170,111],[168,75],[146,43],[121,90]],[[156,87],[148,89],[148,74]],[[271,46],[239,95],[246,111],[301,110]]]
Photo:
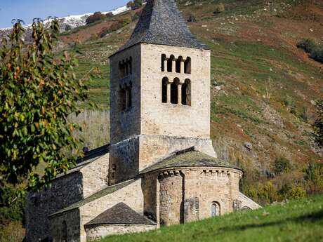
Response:
[[[210,138],[210,56],[174,0],[149,0],[110,57],[110,142],[27,196],[27,242],[86,242],[234,210],[243,171]]]

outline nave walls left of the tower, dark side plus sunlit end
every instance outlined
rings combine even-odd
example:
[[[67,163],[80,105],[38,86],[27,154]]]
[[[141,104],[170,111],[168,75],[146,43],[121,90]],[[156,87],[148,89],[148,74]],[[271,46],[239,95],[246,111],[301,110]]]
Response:
[[[30,193],[26,200],[26,238],[51,238],[48,215],[77,203],[107,186],[109,154],[53,180],[49,189]]]

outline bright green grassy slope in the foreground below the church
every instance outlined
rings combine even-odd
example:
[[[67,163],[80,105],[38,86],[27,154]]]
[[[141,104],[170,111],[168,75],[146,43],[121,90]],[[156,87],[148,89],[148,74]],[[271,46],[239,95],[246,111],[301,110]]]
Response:
[[[100,242],[322,242],[323,196]]]

